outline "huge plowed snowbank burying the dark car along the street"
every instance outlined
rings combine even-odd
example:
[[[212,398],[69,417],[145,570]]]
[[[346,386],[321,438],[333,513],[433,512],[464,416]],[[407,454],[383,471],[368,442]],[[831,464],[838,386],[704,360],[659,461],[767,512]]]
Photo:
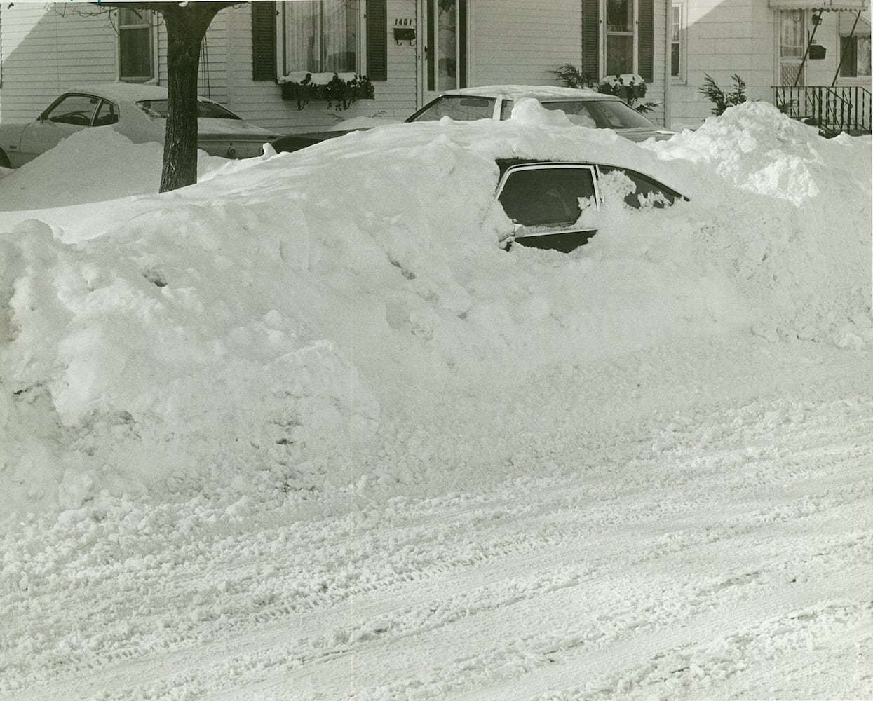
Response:
[[[0,217],[0,511],[388,489],[440,469],[459,431],[485,438],[462,398],[543,368],[719,334],[870,346],[869,138],[760,105],[645,148],[556,120],[383,127],[89,216]],[[69,168],[76,146],[44,158]],[[610,203],[574,254],[507,253],[507,156],[624,164],[691,202]],[[0,197],[27,209],[37,186],[22,169]]]

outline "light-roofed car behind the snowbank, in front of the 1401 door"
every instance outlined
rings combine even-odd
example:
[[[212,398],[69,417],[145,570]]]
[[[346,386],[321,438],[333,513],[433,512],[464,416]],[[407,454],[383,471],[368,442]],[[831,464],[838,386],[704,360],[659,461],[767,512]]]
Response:
[[[612,129],[630,141],[669,139],[675,134],[658,127],[615,95],[558,86],[482,86],[443,93],[404,121],[434,121],[450,117],[456,121],[508,120],[518,100],[533,98],[546,109],[561,110],[581,127]],[[372,127],[364,127],[372,128]],[[361,129],[286,134],[272,141],[277,152],[299,151],[320,141],[334,139]]]

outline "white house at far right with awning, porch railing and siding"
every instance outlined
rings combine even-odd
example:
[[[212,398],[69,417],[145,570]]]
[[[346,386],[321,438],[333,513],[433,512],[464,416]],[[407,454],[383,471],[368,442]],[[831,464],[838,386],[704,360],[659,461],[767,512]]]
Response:
[[[792,116],[829,120],[848,113],[870,129],[869,0],[671,0],[667,120],[695,127],[711,103],[705,75]]]

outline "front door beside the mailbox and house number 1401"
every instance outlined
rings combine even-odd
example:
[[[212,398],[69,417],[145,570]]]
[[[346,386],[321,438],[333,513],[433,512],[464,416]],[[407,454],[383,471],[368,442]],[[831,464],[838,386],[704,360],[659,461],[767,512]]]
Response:
[[[467,86],[467,0],[419,0],[419,107]]]

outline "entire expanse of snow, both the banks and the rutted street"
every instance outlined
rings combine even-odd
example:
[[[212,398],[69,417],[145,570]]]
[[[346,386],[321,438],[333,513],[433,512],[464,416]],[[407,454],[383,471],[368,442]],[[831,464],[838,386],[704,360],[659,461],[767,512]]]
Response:
[[[870,151],[529,103],[3,175],[0,698],[873,698]],[[501,251],[508,156],[691,202]]]

